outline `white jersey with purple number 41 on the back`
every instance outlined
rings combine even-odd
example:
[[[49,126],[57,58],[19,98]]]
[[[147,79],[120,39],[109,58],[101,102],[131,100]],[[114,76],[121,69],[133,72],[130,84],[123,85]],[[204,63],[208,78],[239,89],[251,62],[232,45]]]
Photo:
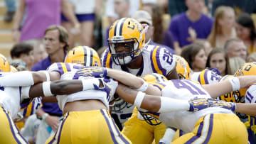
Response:
[[[162,90],[162,96],[182,100],[189,100],[196,96],[210,98],[210,95],[201,87],[201,84],[191,80],[174,79],[162,83],[166,84],[166,87]],[[193,131],[196,121],[209,113],[233,114],[233,112],[228,109],[212,107],[196,112],[176,111],[171,113],[160,113],[159,120],[168,127],[178,128],[186,133],[190,133]]]

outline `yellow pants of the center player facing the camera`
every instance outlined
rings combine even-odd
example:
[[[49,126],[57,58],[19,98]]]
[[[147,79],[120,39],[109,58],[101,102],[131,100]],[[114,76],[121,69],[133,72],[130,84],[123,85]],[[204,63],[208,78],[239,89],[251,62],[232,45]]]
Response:
[[[151,144],[155,139],[156,143],[164,136],[166,126],[161,123],[157,126],[151,126],[146,121],[139,120],[138,110],[134,108],[132,116],[124,123],[122,133],[132,141],[133,144]]]

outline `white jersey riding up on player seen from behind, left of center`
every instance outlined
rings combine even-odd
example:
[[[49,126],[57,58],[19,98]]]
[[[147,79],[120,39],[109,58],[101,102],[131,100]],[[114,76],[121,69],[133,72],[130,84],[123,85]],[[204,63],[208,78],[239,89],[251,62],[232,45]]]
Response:
[[[60,73],[60,79],[92,79],[95,77],[84,77],[82,75],[82,69],[85,68],[85,66],[78,65],[78,64],[72,64],[72,63],[63,63],[63,62],[57,62],[53,65],[50,65],[48,67],[48,71],[55,71]],[[100,78],[99,78],[100,79]],[[101,78],[103,79],[103,78]],[[64,106],[68,102],[73,101],[80,101],[85,99],[98,99],[109,108],[109,102],[111,101],[115,89],[117,88],[118,83],[114,80],[110,79],[107,84],[111,87],[112,93],[107,95],[107,92],[95,90],[95,89],[89,89],[86,91],[76,92],[73,94],[68,95],[59,95],[56,96],[58,100],[58,104],[60,106],[60,109],[63,110]]]

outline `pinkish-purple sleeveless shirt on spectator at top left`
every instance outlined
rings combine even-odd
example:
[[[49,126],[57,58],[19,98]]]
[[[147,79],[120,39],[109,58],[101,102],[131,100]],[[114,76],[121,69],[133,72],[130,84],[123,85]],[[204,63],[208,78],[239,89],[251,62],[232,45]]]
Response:
[[[26,20],[20,41],[43,38],[46,28],[60,25],[61,0],[26,0]]]

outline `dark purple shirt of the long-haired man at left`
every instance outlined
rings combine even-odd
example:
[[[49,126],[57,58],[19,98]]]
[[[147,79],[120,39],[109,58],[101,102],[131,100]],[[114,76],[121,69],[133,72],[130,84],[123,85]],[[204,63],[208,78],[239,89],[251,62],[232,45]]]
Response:
[[[67,53],[65,53],[67,55]],[[50,62],[50,56],[37,62],[33,65],[31,71],[46,70],[52,63]],[[53,116],[63,116],[63,111],[60,110],[58,103],[43,103],[43,111]]]

